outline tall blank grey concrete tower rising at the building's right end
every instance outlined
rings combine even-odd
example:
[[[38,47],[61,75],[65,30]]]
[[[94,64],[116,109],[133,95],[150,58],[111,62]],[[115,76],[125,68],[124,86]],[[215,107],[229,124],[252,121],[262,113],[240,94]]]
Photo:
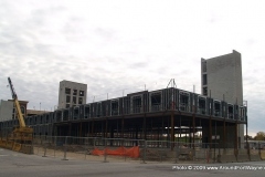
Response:
[[[244,105],[241,53],[232,53],[211,59],[201,59],[201,94],[225,101],[230,104]],[[240,110],[235,108],[239,115]],[[230,115],[226,115],[230,116]],[[244,125],[237,126],[237,138],[244,140]]]

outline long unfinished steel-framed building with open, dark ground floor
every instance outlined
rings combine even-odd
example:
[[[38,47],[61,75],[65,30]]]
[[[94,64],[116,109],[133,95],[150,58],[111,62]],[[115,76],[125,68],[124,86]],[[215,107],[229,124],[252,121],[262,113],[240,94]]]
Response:
[[[227,56],[231,58],[231,54]],[[225,93],[222,98],[212,95],[211,92],[215,93],[215,90],[205,86],[213,85],[206,81],[211,73],[205,76],[205,71],[203,60],[202,94],[177,88],[172,84],[162,90],[130,93],[123,97],[29,116],[25,117],[25,124],[33,127],[34,135],[169,142],[186,137],[189,143],[194,143],[197,135],[201,143],[240,148],[239,128],[247,125],[247,107],[243,101],[230,101]],[[18,119],[1,122],[2,135],[17,124]]]

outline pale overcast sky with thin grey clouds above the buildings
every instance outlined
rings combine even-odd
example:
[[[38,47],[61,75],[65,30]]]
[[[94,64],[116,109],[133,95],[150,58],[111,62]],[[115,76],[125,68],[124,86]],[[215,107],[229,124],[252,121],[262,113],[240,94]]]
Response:
[[[0,0],[0,100],[53,111],[59,83],[87,102],[167,87],[201,92],[201,58],[242,54],[248,134],[265,132],[265,1]]]

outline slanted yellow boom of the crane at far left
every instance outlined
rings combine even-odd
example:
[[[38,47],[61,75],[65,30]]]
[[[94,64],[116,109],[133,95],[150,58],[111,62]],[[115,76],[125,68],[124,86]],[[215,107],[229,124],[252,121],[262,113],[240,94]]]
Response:
[[[10,77],[8,77],[8,81],[9,81],[9,86],[10,86],[10,90],[11,90],[12,98],[13,98],[13,102],[14,102],[14,106],[15,106],[15,110],[17,110],[17,115],[18,115],[20,127],[25,127],[24,117],[23,117],[23,114],[21,112],[20,104],[19,104],[19,101],[18,101],[18,95],[14,91],[14,87],[13,87],[13,84],[12,84]]]

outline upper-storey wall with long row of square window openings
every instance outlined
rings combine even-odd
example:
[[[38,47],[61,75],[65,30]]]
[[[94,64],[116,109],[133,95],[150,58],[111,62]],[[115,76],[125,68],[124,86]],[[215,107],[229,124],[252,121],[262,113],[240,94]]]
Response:
[[[166,88],[153,92],[135,93],[134,95],[131,94],[115,100],[57,110],[54,113],[29,117],[29,121],[30,124],[34,125],[49,122],[53,123],[170,110],[240,121],[246,121],[247,117],[247,110],[245,106],[230,104],[178,88]],[[31,121],[33,121],[33,123],[31,123]]]

